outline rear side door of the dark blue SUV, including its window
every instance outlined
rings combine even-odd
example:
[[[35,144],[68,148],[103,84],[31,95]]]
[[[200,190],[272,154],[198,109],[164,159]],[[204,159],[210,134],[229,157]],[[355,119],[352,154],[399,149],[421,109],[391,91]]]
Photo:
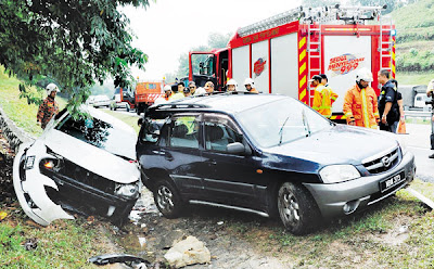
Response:
[[[186,198],[202,198],[203,177],[207,172],[203,163],[200,114],[177,114],[171,117],[165,145],[155,150],[161,156],[159,167],[169,172]]]

